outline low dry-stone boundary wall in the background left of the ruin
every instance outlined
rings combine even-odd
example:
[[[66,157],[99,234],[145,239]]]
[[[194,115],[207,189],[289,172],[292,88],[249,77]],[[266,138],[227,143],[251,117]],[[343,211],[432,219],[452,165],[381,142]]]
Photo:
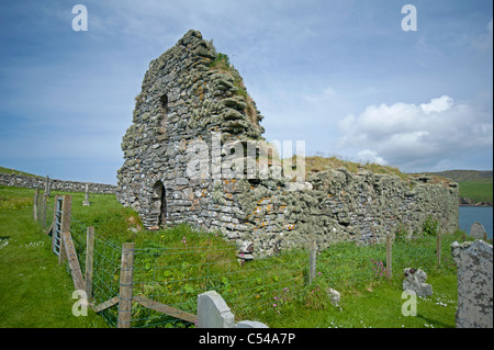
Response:
[[[44,189],[46,178],[29,177],[22,174],[0,173],[0,184],[27,188],[27,189]],[[50,189],[54,191],[66,192],[85,192],[86,184],[88,184],[88,191],[90,193],[115,193],[116,187],[113,184],[94,183],[94,182],[79,182],[79,181],[65,181],[57,179],[49,179]]]

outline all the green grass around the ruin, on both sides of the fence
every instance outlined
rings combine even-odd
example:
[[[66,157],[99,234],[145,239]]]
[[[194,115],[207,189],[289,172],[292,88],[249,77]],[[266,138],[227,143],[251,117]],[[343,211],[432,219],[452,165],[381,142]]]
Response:
[[[50,237],[32,219],[33,194],[33,190],[0,187],[0,327],[106,327],[91,311],[87,317],[72,315],[76,301],[71,298],[70,273],[57,264]],[[83,193],[72,195],[72,216],[96,226],[98,239],[115,246],[135,241],[134,290],[160,302],[159,296],[166,296],[168,304],[181,304],[193,312],[194,296],[213,289],[238,319],[257,319],[270,327],[454,327],[457,281],[449,246],[461,239],[461,233],[444,238],[440,267],[435,263],[435,237],[396,242],[392,281],[381,274],[380,263],[385,259],[382,245],[334,246],[317,257],[317,276],[307,284],[306,251],[281,253],[246,268],[215,234],[197,233],[187,226],[137,232],[137,215],[123,208],[114,195],[91,195],[89,207],[81,205]],[[401,271],[405,267],[424,269],[434,290],[430,297],[417,300],[416,316],[402,315]],[[200,269],[207,269],[206,279],[194,278],[204,273]],[[329,303],[329,286],[340,292],[340,308]],[[154,318],[136,305],[134,313],[141,319],[133,323],[135,326],[187,327]]]

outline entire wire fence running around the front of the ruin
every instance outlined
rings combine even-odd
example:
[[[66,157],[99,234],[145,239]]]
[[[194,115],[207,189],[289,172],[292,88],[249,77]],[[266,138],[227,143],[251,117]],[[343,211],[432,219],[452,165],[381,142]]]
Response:
[[[53,219],[52,223],[46,221],[43,228],[54,235],[56,207],[52,205],[49,210],[49,205],[44,206],[46,217]],[[88,251],[91,250],[88,248],[88,233],[91,228],[71,214],[63,215],[69,219],[80,270],[87,276]],[[166,314],[162,309],[166,306],[195,315],[198,295],[212,290],[222,295],[238,319],[262,320],[266,311],[272,311],[287,297],[302,300],[316,289],[340,291],[373,285],[386,278],[400,280],[401,272],[409,267],[431,271],[442,263],[442,269],[456,269],[449,258],[449,245],[431,245],[427,237],[394,241],[392,258],[385,244],[358,247],[355,242],[339,242],[328,246],[323,237],[307,237],[291,239],[293,245],[285,245],[276,255],[254,260],[244,259],[235,244],[221,237],[209,234],[201,237],[193,244],[188,244],[183,237],[180,244],[168,247],[157,244],[134,247],[132,327],[193,326],[190,318],[176,317],[176,313]],[[120,324],[117,302],[122,289],[122,255],[120,244],[94,233],[90,300],[94,306],[108,305],[97,309],[111,327]],[[392,276],[389,274],[391,262]],[[149,307],[149,303],[139,303],[138,297],[165,306]]]

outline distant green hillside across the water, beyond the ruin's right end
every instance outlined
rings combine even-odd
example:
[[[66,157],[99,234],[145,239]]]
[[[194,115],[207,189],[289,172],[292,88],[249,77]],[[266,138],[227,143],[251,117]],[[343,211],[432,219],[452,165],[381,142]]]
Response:
[[[460,203],[492,205],[493,202],[493,171],[479,170],[447,170],[426,172],[451,179],[460,185]]]

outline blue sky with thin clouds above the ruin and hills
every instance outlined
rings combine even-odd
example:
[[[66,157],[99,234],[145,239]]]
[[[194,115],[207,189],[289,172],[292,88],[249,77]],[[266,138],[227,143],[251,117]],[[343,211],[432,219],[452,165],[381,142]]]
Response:
[[[191,29],[240,72],[267,140],[493,168],[491,0],[0,0],[0,166],[116,184],[148,65]]]

